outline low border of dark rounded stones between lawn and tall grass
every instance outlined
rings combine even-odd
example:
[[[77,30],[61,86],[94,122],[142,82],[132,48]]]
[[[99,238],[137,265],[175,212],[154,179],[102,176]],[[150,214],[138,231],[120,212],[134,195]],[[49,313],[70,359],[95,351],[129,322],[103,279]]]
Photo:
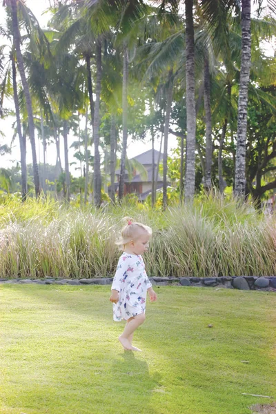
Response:
[[[222,277],[149,277],[152,285],[159,286],[199,286],[216,287],[239,290],[268,290],[276,292],[276,277],[257,276],[222,276]],[[0,279],[0,284],[46,284],[46,285],[110,285],[112,277],[95,279],[57,279],[46,277],[45,279]]]

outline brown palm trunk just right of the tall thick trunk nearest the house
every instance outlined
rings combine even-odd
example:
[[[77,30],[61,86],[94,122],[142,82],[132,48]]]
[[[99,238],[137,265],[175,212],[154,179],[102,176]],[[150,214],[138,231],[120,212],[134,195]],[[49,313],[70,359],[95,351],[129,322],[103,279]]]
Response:
[[[204,187],[206,191],[212,188],[212,157],[213,157],[213,142],[212,142],[212,115],[210,104],[210,71],[209,71],[209,57],[208,52],[204,56],[204,110],[206,121],[206,151],[205,151],[205,175]]]

